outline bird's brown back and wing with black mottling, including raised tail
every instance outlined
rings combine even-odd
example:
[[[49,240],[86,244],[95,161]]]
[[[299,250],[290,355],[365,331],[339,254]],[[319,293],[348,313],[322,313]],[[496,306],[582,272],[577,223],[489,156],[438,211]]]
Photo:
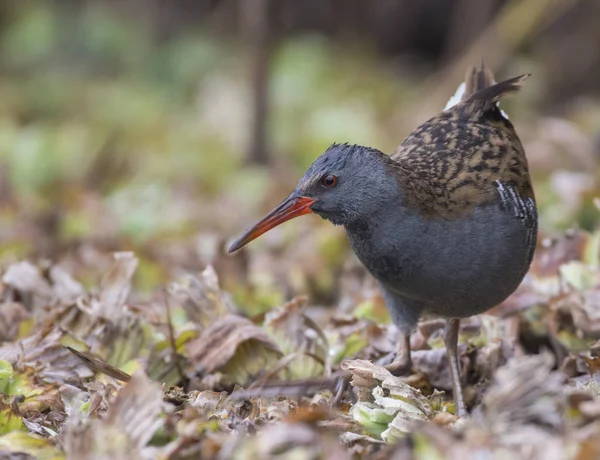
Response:
[[[527,77],[481,88],[493,81],[493,75],[487,70],[472,72],[467,91],[478,91],[404,140],[391,158],[396,161],[407,206],[427,217],[451,219],[478,205],[497,202],[500,186],[514,191],[523,204],[529,199],[533,203],[523,146],[497,107]]]

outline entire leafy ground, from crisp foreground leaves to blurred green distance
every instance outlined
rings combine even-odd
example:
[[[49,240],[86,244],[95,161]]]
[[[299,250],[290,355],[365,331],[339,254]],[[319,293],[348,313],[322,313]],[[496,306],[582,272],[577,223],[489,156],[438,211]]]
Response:
[[[550,117],[540,63],[500,75],[534,74],[503,108],[543,232],[519,290],[462,323],[457,420],[443,322],[387,373],[394,328],[340,229],[306,217],[223,253],[331,142],[393,150],[432,83],[283,42],[273,164],[250,167],[242,47],[52,5],[8,8],[0,34],[0,458],[600,457],[597,99]]]

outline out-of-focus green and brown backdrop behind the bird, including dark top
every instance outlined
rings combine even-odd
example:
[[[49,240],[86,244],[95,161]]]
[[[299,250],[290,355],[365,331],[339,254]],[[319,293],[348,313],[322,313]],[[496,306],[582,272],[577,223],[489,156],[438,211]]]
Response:
[[[133,250],[138,292],[213,264],[249,313],[355,304],[370,279],[316,216],[224,245],[332,142],[393,151],[482,59],[533,73],[503,108],[542,234],[597,228],[599,24],[595,0],[1,1],[0,266],[95,285]]]

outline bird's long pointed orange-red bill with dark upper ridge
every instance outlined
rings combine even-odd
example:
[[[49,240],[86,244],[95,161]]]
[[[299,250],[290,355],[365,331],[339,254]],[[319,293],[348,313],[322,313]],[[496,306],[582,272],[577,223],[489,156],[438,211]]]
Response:
[[[254,224],[229,246],[229,253],[235,252],[250,241],[258,238],[273,227],[283,224],[294,217],[310,214],[310,206],[315,202],[312,198],[291,194],[283,200],[279,206],[273,209],[269,214]]]

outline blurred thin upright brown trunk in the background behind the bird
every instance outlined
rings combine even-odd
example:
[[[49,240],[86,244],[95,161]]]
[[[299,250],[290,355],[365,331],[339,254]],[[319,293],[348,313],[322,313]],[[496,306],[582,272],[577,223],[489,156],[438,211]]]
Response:
[[[250,48],[252,115],[247,158],[251,163],[269,162],[267,120],[269,116],[269,61],[271,56],[271,0],[242,0],[242,27]]]

